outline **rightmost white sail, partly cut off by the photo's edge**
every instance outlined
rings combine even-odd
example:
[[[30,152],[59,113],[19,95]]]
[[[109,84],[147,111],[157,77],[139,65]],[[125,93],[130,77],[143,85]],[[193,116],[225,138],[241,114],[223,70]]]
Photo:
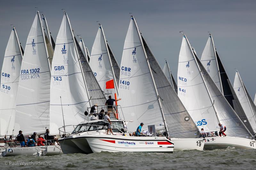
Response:
[[[239,99],[244,112],[248,118],[248,121],[250,122],[254,133],[256,132],[256,121],[255,121],[255,105],[254,103],[250,103],[249,101],[249,94],[247,94],[244,84],[242,82],[242,79],[238,73],[238,71],[236,71],[236,76],[235,76],[235,80],[234,80],[234,90],[236,92],[236,96]],[[254,108],[254,109],[253,109]]]

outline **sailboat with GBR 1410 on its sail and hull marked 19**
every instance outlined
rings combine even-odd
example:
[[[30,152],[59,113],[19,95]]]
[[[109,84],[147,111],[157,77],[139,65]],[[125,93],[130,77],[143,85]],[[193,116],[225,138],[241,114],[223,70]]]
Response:
[[[126,35],[120,73],[119,96],[124,117],[133,120],[128,129],[140,122],[149,132],[164,132],[175,144],[174,150],[203,150],[203,139],[179,100],[155,56],[132,17]],[[170,129],[168,131],[168,129]],[[200,145],[200,146],[199,146]]]

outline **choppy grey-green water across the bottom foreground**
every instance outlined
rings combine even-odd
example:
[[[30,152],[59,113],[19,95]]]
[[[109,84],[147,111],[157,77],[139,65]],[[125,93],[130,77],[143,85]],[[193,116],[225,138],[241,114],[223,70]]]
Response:
[[[27,164],[24,166],[24,164]],[[17,165],[18,164],[18,165]],[[30,165],[29,165],[30,164]],[[34,164],[34,165],[33,165]],[[37,164],[37,165],[35,165]],[[48,164],[48,165],[47,165]],[[226,149],[173,153],[101,152],[89,155],[0,158],[1,169],[255,169],[256,150]]]

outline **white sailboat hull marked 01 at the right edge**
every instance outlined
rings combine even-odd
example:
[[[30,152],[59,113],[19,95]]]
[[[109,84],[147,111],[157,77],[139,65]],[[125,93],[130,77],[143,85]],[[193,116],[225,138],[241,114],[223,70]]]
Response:
[[[256,141],[241,137],[205,137],[204,149],[256,149]]]

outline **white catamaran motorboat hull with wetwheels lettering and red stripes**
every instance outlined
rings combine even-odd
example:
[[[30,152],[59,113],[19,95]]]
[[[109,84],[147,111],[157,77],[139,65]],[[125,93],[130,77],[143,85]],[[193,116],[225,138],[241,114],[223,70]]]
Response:
[[[59,140],[63,153],[95,152],[173,152],[173,143],[165,137],[120,135],[73,135]]]

